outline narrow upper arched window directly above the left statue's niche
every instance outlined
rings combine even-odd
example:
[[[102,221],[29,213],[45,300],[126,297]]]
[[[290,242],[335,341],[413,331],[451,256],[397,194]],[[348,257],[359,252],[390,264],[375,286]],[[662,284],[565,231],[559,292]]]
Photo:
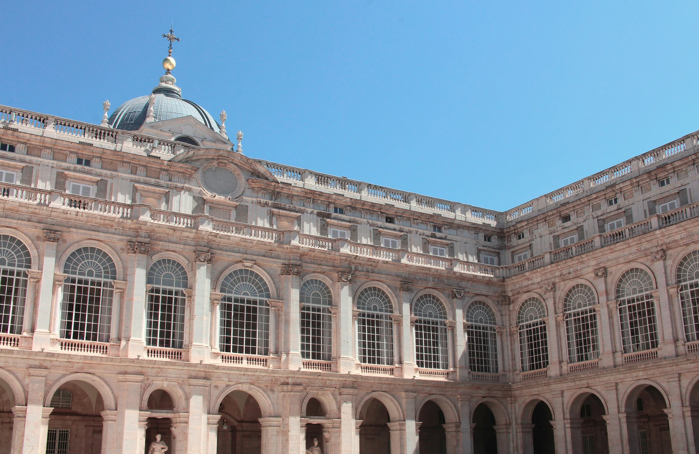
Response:
[[[177,260],[160,259],[148,271],[145,343],[151,347],[182,348],[185,341],[187,271]]]

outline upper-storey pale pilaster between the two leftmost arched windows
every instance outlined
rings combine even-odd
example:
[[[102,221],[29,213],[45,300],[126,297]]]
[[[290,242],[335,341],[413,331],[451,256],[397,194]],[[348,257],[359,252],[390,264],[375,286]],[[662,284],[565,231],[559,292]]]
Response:
[[[56,246],[61,239],[61,232],[44,230],[43,267],[41,269],[41,286],[39,287],[36,307],[36,329],[31,349],[47,350],[51,337],[51,306],[53,302],[53,275],[56,271]],[[43,453],[41,453],[43,454]]]

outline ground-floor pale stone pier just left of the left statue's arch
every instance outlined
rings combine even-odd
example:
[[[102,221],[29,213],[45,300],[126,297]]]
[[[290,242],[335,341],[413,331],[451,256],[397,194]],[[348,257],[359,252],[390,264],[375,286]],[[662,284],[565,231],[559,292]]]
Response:
[[[143,427],[139,426],[140,385],[142,381],[143,375],[120,374],[117,376],[115,453],[143,453],[145,418],[143,419]]]

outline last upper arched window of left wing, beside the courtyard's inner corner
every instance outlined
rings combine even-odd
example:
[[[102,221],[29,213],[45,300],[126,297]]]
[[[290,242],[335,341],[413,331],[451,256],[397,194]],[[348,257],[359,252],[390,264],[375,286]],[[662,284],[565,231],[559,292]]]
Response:
[[[498,334],[495,313],[482,301],[475,301],[466,309],[466,343],[468,367],[474,372],[498,372]]]

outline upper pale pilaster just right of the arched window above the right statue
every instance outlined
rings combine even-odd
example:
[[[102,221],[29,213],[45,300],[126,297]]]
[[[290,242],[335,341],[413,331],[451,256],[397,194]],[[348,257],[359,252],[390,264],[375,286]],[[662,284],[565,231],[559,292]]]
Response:
[[[338,273],[338,282],[336,283],[336,295],[340,297],[338,301],[338,372],[340,374],[354,373],[354,342],[356,334],[354,333],[354,320],[352,318],[352,281],[354,275],[352,273]],[[334,329],[334,327],[333,327]]]

